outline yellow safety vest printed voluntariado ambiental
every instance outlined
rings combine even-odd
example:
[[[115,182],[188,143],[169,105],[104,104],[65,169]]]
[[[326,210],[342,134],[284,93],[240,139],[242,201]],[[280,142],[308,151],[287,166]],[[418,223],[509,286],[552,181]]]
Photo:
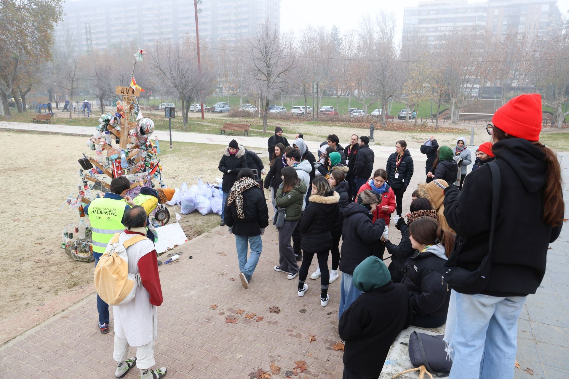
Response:
[[[122,215],[126,203],[122,200],[97,198],[89,204],[89,220],[93,231],[93,252],[104,253],[106,246],[115,233],[125,230]]]

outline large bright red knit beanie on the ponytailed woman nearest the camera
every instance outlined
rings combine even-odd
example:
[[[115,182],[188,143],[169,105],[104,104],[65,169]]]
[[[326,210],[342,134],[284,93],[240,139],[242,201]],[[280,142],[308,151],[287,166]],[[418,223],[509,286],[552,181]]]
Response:
[[[516,96],[498,108],[492,123],[514,137],[539,141],[541,119],[541,95],[530,93]]]

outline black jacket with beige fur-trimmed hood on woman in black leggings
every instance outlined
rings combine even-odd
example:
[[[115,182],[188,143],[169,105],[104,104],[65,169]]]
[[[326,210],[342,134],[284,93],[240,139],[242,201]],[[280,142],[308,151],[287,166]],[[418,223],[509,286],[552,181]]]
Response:
[[[329,191],[321,195],[311,195],[308,205],[300,219],[302,243],[300,248],[308,252],[328,251],[332,248],[330,228],[338,218],[338,201],[340,195]]]

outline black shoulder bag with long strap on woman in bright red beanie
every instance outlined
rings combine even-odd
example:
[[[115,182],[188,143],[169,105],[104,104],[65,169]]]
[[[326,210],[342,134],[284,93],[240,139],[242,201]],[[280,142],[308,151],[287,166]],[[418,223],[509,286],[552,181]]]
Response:
[[[455,291],[467,295],[481,293],[488,286],[490,275],[490,256],[492,256],[492,245],[494,241],[494,229],[496,228],[496,217],[498,213],[498,198],[500,197],[500,168],[495,162],[487,163],[492,171],[492,221],[490,223],[490,236],[488,244],[488,254],[484,257],[476,271],[469,271],[457,265],[457,250],[451,254],[448,261],[444,264],[444,280]]]

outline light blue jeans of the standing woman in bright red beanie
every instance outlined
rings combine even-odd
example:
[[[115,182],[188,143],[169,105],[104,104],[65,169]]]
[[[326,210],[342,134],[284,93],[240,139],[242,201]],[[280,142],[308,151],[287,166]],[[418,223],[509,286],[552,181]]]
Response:
[[[452,290],[444,340],[450,379],[514,377],[518,318],[525,296],[465,295]]]

